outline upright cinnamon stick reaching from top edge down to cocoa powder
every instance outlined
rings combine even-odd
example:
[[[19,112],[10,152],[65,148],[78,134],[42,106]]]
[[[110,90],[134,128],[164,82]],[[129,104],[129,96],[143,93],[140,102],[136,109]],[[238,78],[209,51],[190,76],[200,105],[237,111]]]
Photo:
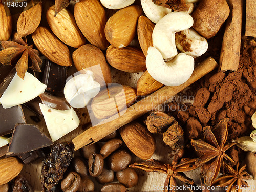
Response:
[[[223,36],[220,70],[237,71],[240,59],[243,0],[228,0],[230,14]]]

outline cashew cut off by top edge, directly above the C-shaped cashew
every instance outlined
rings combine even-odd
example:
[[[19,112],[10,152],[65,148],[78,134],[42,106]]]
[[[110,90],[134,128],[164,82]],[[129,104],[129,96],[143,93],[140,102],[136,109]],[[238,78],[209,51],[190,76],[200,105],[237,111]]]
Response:
[[[157,23],[165,15],[172,12],[172,9],[158,6],[154,4],[152,0],[141,0],[140,2],[141,2],[142,9],[146,14],[147,18],[154,23]]]

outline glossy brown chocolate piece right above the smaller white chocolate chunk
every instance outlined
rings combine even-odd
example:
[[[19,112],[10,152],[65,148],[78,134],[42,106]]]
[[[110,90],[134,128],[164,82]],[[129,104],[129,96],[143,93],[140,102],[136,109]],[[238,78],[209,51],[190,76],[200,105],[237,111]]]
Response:
[[[65,97],[56,97],[46,93],[39,95],[42,100],[42,104],[49,106],[50,108],[56,110],[68,110],[70,109],[70,104],[67,102]]]

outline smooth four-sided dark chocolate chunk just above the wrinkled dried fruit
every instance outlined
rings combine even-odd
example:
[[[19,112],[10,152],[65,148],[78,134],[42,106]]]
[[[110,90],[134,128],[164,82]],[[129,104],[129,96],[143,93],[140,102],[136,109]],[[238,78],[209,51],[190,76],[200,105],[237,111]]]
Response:
[[[42,133],[37,125],[16,124],[6,156],[24,154],[52,144],[51,139]]]

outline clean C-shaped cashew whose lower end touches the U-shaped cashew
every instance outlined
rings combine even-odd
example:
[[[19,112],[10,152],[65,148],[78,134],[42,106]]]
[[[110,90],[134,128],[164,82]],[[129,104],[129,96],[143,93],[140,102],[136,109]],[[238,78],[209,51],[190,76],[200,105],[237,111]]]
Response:
[[[157,22],[153,34],[153,46],[164,59],[173,58],[178,54],[175,45],[175,33],[193,26],[193,18],[184,12],[172,12]]]

